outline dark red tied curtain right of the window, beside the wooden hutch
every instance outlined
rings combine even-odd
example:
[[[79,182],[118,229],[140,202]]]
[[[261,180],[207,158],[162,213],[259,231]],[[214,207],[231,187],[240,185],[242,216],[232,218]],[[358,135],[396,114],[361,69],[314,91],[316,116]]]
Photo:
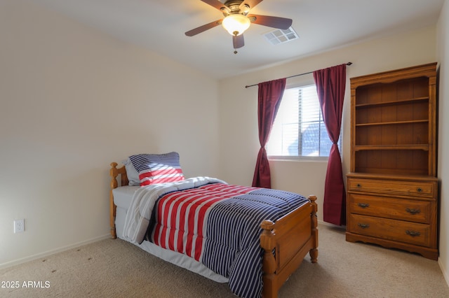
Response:
[[[323,120],[333,143],[330,148],[324,185],[323,220],[335,225],[346,225],[346,192],[343,183],[342,159],[337,146],[342,123],[346,64],[314,71],[314,80]]]

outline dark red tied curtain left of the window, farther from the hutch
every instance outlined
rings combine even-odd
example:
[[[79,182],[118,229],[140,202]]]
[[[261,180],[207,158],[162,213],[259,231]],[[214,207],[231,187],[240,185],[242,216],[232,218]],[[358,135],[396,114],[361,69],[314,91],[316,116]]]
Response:
[[[253,186],[272,188],[272,178],[269,171],[269,162],[265,145],[272,130],[274,118],[278,112],[283,90],[286,87],[286,78],[259,83],[257,114],[259,118],[260,150],[255,165]]]

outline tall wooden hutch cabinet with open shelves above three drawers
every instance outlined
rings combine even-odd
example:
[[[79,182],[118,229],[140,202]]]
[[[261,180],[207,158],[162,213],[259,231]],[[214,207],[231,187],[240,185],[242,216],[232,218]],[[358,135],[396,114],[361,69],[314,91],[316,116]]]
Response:
[[[346,240],[438,259],[436,63],[351,78]]]

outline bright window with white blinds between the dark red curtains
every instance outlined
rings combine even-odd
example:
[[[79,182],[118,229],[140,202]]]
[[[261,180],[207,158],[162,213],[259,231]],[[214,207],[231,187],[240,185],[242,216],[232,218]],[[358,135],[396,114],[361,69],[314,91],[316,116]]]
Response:
[[[340,144],[341,141],[339,149]],[[331,146],[316,86],[286,89],[267,143],[267,154],[270,157],[328,157]]]

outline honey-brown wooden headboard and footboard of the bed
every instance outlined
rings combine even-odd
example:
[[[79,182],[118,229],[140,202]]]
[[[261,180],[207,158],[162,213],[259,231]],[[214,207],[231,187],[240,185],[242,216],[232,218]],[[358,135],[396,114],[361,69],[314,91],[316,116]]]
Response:
[[[115,215],[116,205],[112,190],[120,185],[128,185],[125,166],[117,168],[117,163],[111,163],[111,190],[109,192],[109,212],[111,236],[116,238]],[[311,262],[318,257],[318,229],[316,212],[316,197],[309,196],[309,202],[276,221],[264,220],[260,227],[260,246],[263,256],[263,297],[277,297],[278,291],[288,277],[300,266],[302,260],[310,254]],[[273,253],[274,252],[274,253]]]

